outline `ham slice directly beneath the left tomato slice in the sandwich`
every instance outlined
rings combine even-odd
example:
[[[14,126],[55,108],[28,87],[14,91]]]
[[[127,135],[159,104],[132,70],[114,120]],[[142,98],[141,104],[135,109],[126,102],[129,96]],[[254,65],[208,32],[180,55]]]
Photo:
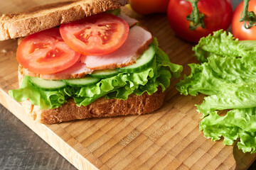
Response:
[[[93,70],[88,69],[82,62],[77,62],[72,67],[55,74],[36,74],[24,69],[21,65],[19,68],[23,74],[31,77],[41,77],[42,79],[75,79],[85,77],[86,74],[92,74]]]

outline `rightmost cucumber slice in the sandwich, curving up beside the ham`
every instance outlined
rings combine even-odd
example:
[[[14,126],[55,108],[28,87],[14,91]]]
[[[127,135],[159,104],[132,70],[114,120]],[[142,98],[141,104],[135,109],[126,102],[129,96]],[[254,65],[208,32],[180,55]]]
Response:
[[[154,60],[155,50],[152,45],[140,56],[135,64],[119,68],[121,72],[140,72],[148,67]]]

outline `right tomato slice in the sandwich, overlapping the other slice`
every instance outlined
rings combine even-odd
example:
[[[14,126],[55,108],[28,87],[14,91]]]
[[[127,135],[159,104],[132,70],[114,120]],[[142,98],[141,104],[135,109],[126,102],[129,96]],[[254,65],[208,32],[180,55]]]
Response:
[[[107,55],[127,40],[129,26],[122,18],[100,13],[60,25],[63,40],[82,55]]]

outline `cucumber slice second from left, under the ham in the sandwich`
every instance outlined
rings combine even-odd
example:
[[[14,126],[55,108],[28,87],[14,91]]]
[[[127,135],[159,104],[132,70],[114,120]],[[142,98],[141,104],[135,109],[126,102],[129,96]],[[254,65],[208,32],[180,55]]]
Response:
[[[65,84],[68,84],[69,86],[83,87],[89,86],[91,84],[96,84],[100,81],[100,79],[97,79],[95,77],[84,77],[81,79],[65,79],[63,81],[65,82]]]

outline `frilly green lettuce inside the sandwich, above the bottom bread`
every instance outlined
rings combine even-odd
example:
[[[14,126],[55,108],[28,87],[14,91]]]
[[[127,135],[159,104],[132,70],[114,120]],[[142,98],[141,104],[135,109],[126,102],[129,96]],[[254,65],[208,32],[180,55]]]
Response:
[[[41,109],[58,108],[67,98],[72,97],[78,106],[87,106],[101,97],[126,100],[130,94],[154,94],[161,86],[165,91],[170,85],[171,77],[179,77],[182,67],[172,64],[168,55],[159,49],[154,38],[152,42],[156,50],[154,62],[142,72],[121,72],[114,77],[101,79],[97,84],[86,87],[65,87],[59,91],[43,91],[33,86],[28,77],[24,77],[20,89],[9,91],[9,95],[16,101],[29,99],[33,105]]]

